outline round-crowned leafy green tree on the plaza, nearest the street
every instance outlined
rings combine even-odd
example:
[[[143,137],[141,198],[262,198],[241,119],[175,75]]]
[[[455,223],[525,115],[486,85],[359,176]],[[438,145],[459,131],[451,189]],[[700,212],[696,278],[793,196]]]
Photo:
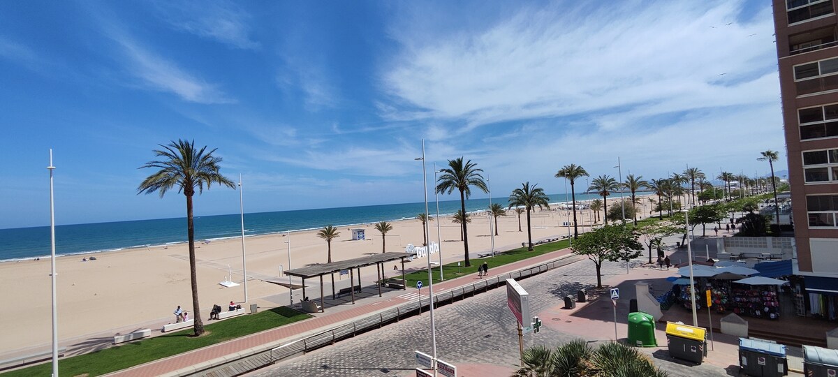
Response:
[[[603,287],[603,261],[626,261],[640,256],[643,245],[637,241],[638,233],[625,224],[605,225],[592,230],[573,242],[573,254],[587,256],[597,267],[597,288]]]

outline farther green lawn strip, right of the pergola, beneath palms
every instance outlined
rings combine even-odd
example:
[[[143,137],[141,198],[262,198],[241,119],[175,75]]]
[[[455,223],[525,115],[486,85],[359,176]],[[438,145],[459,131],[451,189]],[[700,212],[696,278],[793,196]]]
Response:
[[[508,265],[516,261],[523,261],[527,258],[532,258],[533,256],[541,256],[542,254],[546,254],[551,251],[564,249],[569,245],[570,242],[568,242],[568,240],[560,240],[534,246],[534,250],[532,251],[527,251],[526,247],[520,247],[515,250],[496,253],[494,256],[486,258],[472,258],[472,265],[469,267],[464,266],[465,264],[462,262],[461,264],[463,266],[460,267],[457,266],[457,262],[449,263],[442,266],[442,275],[446,280],[451,280],[459,276],[477,273],[477,267],[482,265],[484,261],[489,264],[489,274],[491,274],[492,269],[498,266]],[[439,266],[433,267],[431,271],[433,282],[439,282]],[[427,287],[427,270],[411,272],[407,274],[405,278],[407,281],[407,289],[416,289],[416,281],[420,280],[424,284],[423,287]]]

